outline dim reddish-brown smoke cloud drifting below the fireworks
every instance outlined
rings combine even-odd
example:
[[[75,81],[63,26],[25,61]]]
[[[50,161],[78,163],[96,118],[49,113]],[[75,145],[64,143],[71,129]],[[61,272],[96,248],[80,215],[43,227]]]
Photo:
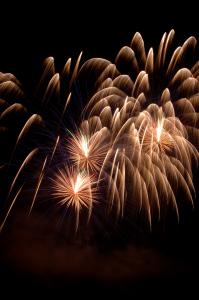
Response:
[[[63,288],[69,283],[73,286],[75,282],[84,285],[85,281],[132,287],[148,281],[155,284],[160,279],[170,283],[176,278],[188,280],[193,275],[189,261],[163,253],[157,247],[130,244],[102,250],[96,245],[60,238],[53,227],[41,216],[24,218],[19,214],[2,233],[0,264],[9,282],[12,278],[15,283],[21,282],[19,278],[29,278],[28,284],[51,288]]]

